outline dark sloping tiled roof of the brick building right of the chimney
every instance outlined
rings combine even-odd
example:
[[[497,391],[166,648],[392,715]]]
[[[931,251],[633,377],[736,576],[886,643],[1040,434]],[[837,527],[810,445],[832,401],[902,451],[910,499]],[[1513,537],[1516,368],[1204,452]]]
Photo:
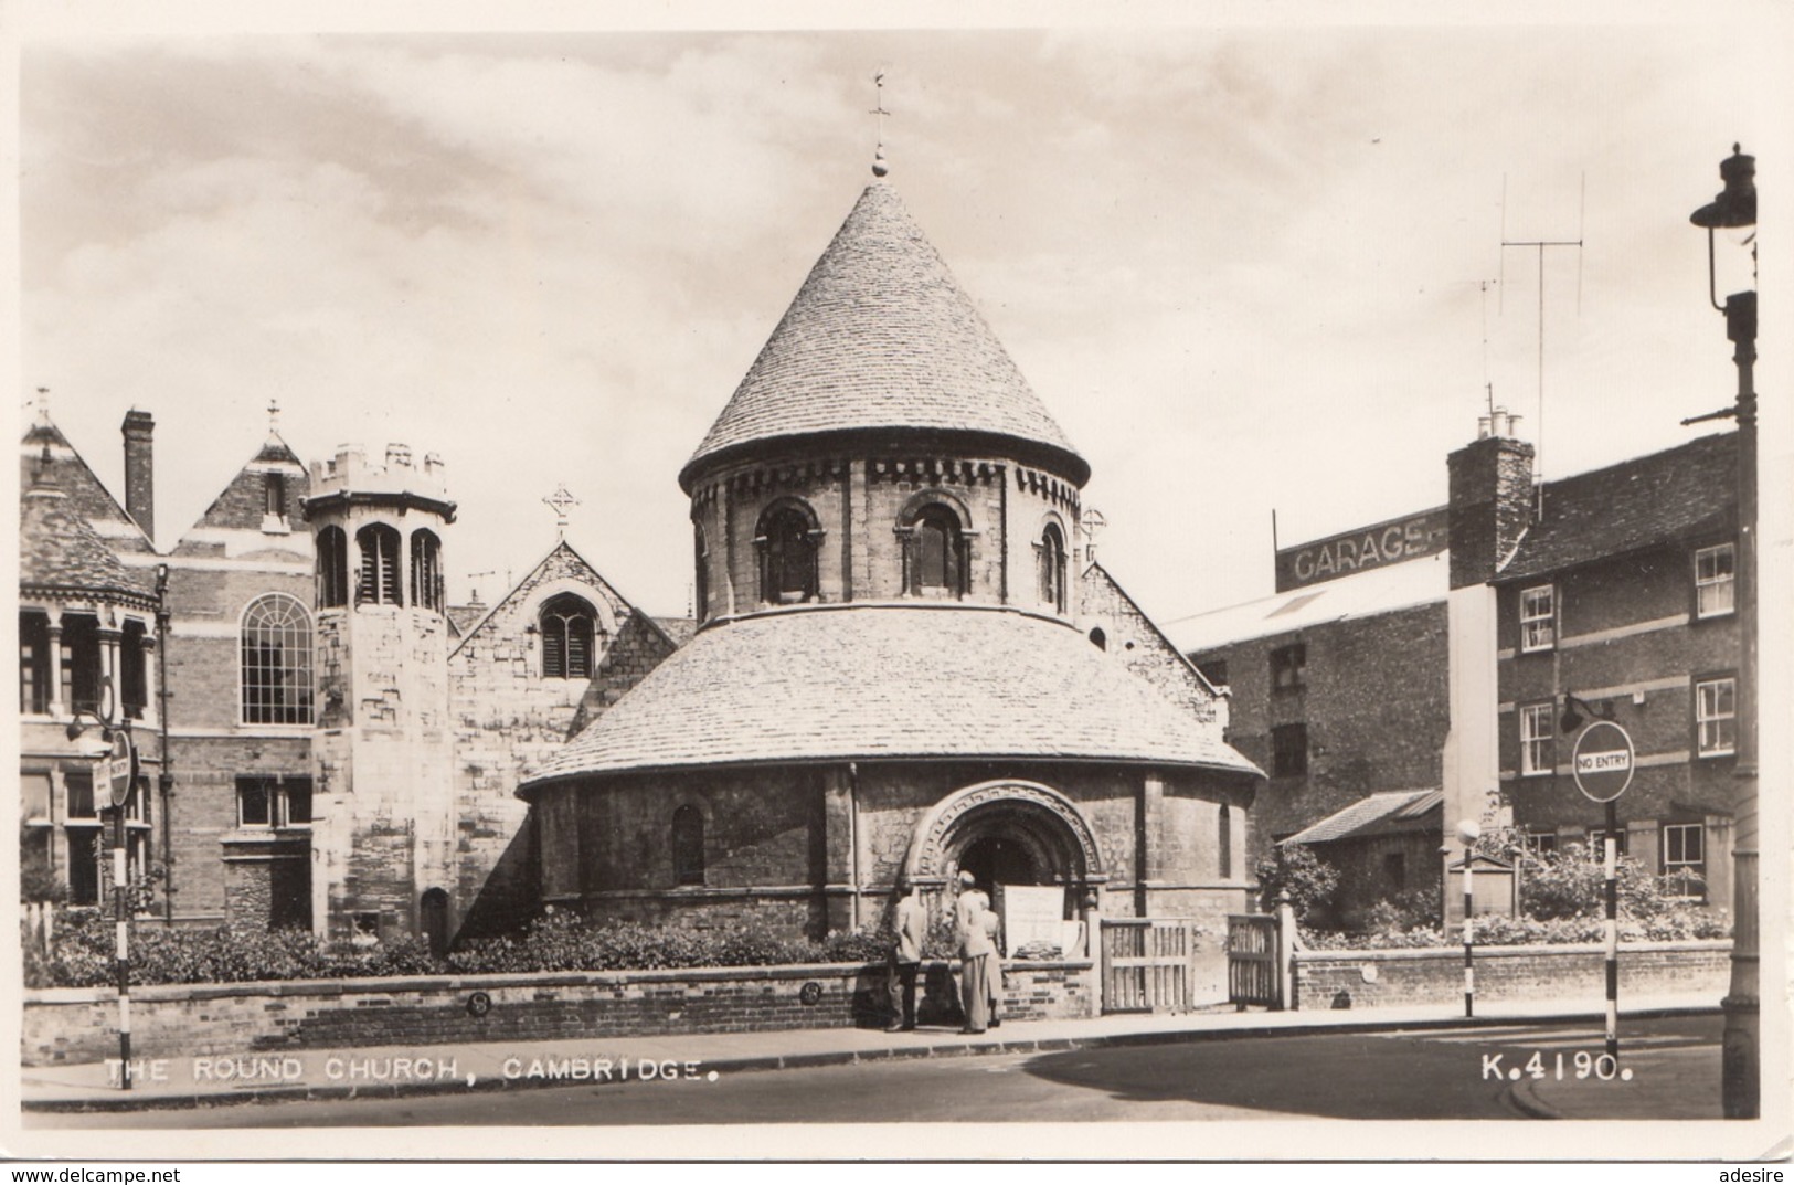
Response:
[[[1738,434],[1545,485],[1545,517],[1521,537],[1496,580],[1523,580],[1656,544],[1737,530]]]

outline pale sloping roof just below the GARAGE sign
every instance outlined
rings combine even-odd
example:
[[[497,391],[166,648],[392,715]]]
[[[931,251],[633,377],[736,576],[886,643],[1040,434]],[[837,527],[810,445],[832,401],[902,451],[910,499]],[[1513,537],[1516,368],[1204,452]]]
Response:
[[[1164,627],[1184,654],[1202,654],[1252,637],[1346,621],[1414,605],[1444,603],[1451,585],[1451,555],[1439,551],[1417,560],[1372,567],[1326,584],[1290,589],[1276,596],[1200,612]]]

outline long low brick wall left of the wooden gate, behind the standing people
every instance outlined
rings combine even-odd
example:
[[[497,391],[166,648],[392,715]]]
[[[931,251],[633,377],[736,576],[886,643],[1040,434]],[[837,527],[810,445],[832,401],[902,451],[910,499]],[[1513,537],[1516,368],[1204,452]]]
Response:
[[[958,1023],[956,962],[917,982],[922,1023]],[[1010,962],[1005,1016],[1094,1016],[1089,962]],[[470,1009],[474,993],[490,1007]],[[278,1049],[553,1041],[766,1029],[883,1027],[884,968],[814,964],[669,971],[562,971],[131,989],[131,1052],[144,1058]],[[25,1065],[100,1061],[118,1052],[109,988],[25,993]]]

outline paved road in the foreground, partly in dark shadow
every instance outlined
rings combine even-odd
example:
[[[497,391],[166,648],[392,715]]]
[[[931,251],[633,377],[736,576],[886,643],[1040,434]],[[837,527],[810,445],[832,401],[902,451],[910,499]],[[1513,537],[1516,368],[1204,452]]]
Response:
[[[1719,1016],[1634,1022],[1627,1081],[1577,1081],[1598,1025],[1224,1038],[1055,1054],[874,1061],[547,1090],[29,1115],[29,1128],[603,1126],[1206,1119],[1523,1119],[1570,1097],[1579,1119],[1717,1119]],[[1537,1054],[1537,1061],[1534,1061]],[[1563,1056],[1559,1063],[1559,1054]],[[1500,1061],[1489,1059],[1500,1056]],[[1559,1070],[1559,1065],[1563,1066]],[[1545,1075],[1536,1081],[1528,1066]],[[1512,1070],[1521,1072],[1514,1081]],[[1568,1081],[1550,1081],[1554,1075]],[[1640,1113],[1640,1102],[1645,1111]]]

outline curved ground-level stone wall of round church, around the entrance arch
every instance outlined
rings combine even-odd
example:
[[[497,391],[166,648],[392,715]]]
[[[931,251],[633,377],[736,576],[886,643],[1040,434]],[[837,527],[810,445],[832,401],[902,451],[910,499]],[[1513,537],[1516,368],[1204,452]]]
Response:
[[[728,925],[761,919],[820,935],[875,923],[906,867],[917,828],[956,790],[988,781],[1048,786],[1073,803],[1100,853],[1109,916],[1184,916],[1224,925],[1245,907],[1250,790],[1200,772],[1046,763],[859,763],[630,776],[547,786],[542,826],[578,837],[542,846],[542,882],[588,917]],[[1222,858],[1220,803],[1229,855]],[[694,806],[703,880],[680,885],[673,813]],[[951,842],[951,840],[949,840]],[[936,873],[944,874],[945,865]],[[576,885],[576,889],[574,889]]]

